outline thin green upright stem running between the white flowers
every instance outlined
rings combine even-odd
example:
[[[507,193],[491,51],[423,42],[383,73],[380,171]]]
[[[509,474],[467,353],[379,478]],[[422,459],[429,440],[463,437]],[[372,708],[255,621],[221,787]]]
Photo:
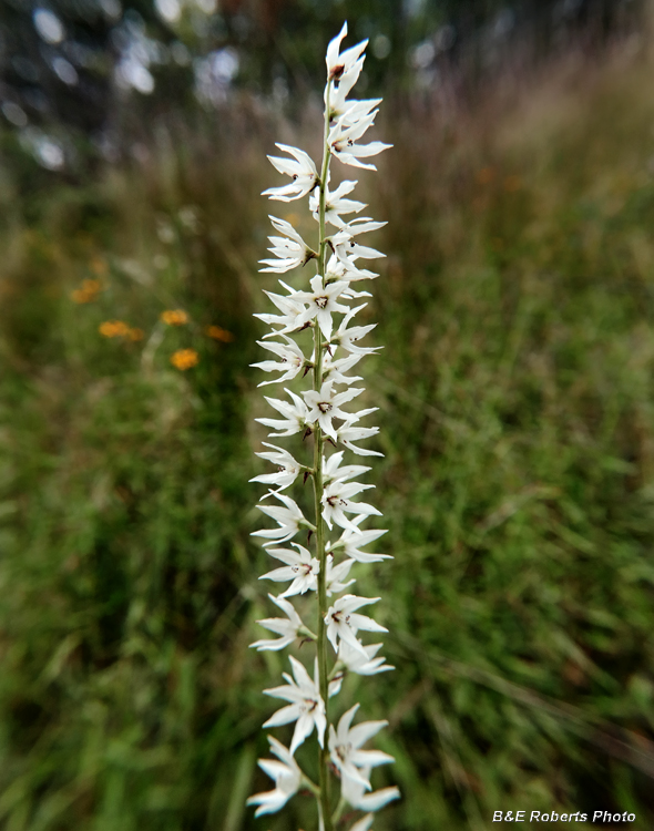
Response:
[[[329,82],[328,82],[329,83]],[[329,172],[329,86],[327,88],[327,100],[325,102],[325,146],[323,150],[323,168],[320,171],[320,201],[319,201],[319,222],[320,222],[320,246],[318,248],[318,274],[325,285],[325,263],[327,234],[325,223],[325,205],[327,175]],[[314,326],[314,389],[319,390],[323,386],[323,337],[320,327],[316,321]],[[327,633],[325,616],[327,614],[327,554],[325,552],[325,523],[323,522],[323,451],[325,438],[319,424],[315,428],[314,443],[314,494],[316,502],[316,558],[320,563],[318,574],[318,639],[316,642],[318,650],[318,679],[320,687],[320,697],[325,702],[325,717],[329,724],[329,671],[327,668]],[[320,782],[320,812],[325,824],[325,831],[333,831],[331,823],[331,774],[329,771],[329,750],[327,748],[327,736],[325,736],[325,748],[320,748],[318,758],[319,782]]]

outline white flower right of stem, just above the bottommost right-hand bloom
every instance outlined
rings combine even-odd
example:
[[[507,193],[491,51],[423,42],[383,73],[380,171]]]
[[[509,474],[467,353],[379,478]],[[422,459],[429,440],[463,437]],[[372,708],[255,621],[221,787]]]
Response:
[[[352,719],[359,705],[356,704],[345,712],[338,722],[338,729],[329,725],[329,756],[336,768],[340,772],[341,781],[350,779],[357,782],[365,790],[371,790],[370,782],[364,777],[361,768],[369,770],[378,765],[388,765],[395,761],[392,756],[381,752],[381,750],[361,750],[368,739],[377,735],[388,721],[364,721],[356,727],[351,727]]]

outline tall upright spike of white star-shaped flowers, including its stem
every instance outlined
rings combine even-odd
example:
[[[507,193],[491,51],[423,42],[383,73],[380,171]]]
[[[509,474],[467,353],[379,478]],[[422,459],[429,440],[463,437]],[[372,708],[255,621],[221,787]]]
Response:
[[[253,481],[269,486],[258,509],[276,526],[256,531],[254,535],[263,540],[266,552],[276,561],[276,567],[262,579],[283,584],[284,591],[278,596],[269,595],[283,616],[258,622],[274,637],[259,639],[252,646],[280,650],[308,640],[315,643],[316,653],[308,668],[289,657],[292,674],[284,674],[285,684],[264,690],[267,696],[285,702],[264,727],[293,725],[293,733],[288,747],[268,737],[276,759],[263,759],[259,765],[273,779],[275,788],[251,797],[248,802],[257,806],[256,815],[272,813],[298,791],[308,790],[317,800],[321,831],[331,831],[346,810],[365,813],[350,831],[366,831],[374,821],[374,812],[399,797],[397,788],[372,791],[370,783],[372,768],[392,761],[387,753],[365,747],[387,722],[354,724],[359,708],[355,705],[336,724],[330,706],[330,698],[339,693],[346,674],[368,676],[392,669],[378,656],[381,644],[367,644],[364,639],[364,633],[387,632],[362,613],[379,597],[352,594],[356,578],[350,577],[352,567],[358,564],[379,563],[388,557],[364,551],[386,532],[362,527],[368,517],[380,515],[376,507],[360,499],[372,485],[355,481],[370,468],[345,463],[346,450],[358,456],[381,455],[358,443],[377,434],[378,428],[361,425],[362,419],[377,408],[350,409],[352,401],[365,392],[362,387],[356,386],[361,377],[350,371],[379,348],[360,345],[375,325],[357,325],[355,317],[366,308],[366,302],[357,304],[357,300],[370,296],[359,290],[360,283],[377,277],[362,267],[361,261],[384,256],[362,244],[360,236],[385,223],[359,216],[366,206],[350,197],[356,181],[345,179],[330,187],[331,160],[375,170],[369,160],[390,145],[378,141],[362,143],[366,131],[375,122],[380,100],[348,98],[361,72],[367,41],[340,51],[346,34],[347,24],[327,49],[320,170],[303,150],[286,144],[277,144],[284,155],[269,156],[276,171],[289,181],[270,187],[264,195],[284,203],[308,197],[309,212],[318,224],[318,243],[313,247],[289,222],[270,216],[275,229],[269,237],[272,256],[262,260],[260,270],[285,274],[313,263],[316,274],[303,290],[279,279],[283,293],[265,293],[275,311],[256,317],[270,327],[259,341],[270,357],[254,365],[274,376],[272,380],[264,380],[262,387],[287,384],[308,373],[313,384],[299,394],[284,387],[286,397],[266,397],[276,416],[258,419],[269,428],[268,435],[274,442],[264,442],[266,450],[257,455],[276,470],[255,476]],[[302,339],[308,340],[309,335],[313,343],[303,348]],[[297,461],[276,443],[292,435],[300,438],[303,447],[313,444],[310,462]],[[330,453],[328,445],[331,445]],[[309,478],[314,485],[313,520],[307,519],[288,495],[296,482],[305,483]],[[333,540],[326,538],[327,529],[334,532]],[[313,541],[314,552],[294,541],[303,531],[309,541],[307,546]],[[315,632],[289,599],[311,594],[317,601],[317,619],[311,622]],[[296,760],[297,749],[313,733],[319,745],[318,783]],[[340,799],[336,807],[331,804],[334,776],[340,780]]]

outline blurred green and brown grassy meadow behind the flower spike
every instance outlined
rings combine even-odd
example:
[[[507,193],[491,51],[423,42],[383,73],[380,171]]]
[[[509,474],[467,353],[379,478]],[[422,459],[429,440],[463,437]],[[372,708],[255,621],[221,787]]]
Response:
[[[364,371],[396,558],[356,576],[384,597],[397,671],[343,696],[390,720],[397,765],[376,784],[403,799],[380,831],[484,829],[500,809],[652,827],[650,75],[617,54],[473,112],[387,107],[396,150],[362,183],[389,220],[367,310],[385,349]],[[252,312],[272,285],[258,193],[293,132],[229,117],[83,188],[2,174],[8,831],[314,827],[303,798],[268,821],[244,808],[268,787],[260,690],[283,666],[247,649],[269,612],[247,483]],[[165,308],[193,326],[152,361],[146,340],[98,332],[121,319],[147,338]],[[176,371],[177,348],[197,367]]]

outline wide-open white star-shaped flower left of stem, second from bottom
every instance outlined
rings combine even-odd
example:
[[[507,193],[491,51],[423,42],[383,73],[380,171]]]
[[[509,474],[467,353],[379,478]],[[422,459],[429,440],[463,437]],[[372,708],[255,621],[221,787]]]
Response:
[[[293,656],[289,657],[289,660],[294,677],[292,678],[287,673],[284,673],[283,678],[287,681],[286,685],[264,690],[265,695],[282,698],[289,704],[270,716],[264,727],[280,727],[295,721],[295,731],[290,742],[290,755],[293,756],[303,741],[311,735],[314,727],[318,736],[318,743],[323,747],[327,720],[325,718],[325,702],[320,698],[317,680],[318,659],[316,658],[314,670],[315,680],[310,678],[299,660]]]

